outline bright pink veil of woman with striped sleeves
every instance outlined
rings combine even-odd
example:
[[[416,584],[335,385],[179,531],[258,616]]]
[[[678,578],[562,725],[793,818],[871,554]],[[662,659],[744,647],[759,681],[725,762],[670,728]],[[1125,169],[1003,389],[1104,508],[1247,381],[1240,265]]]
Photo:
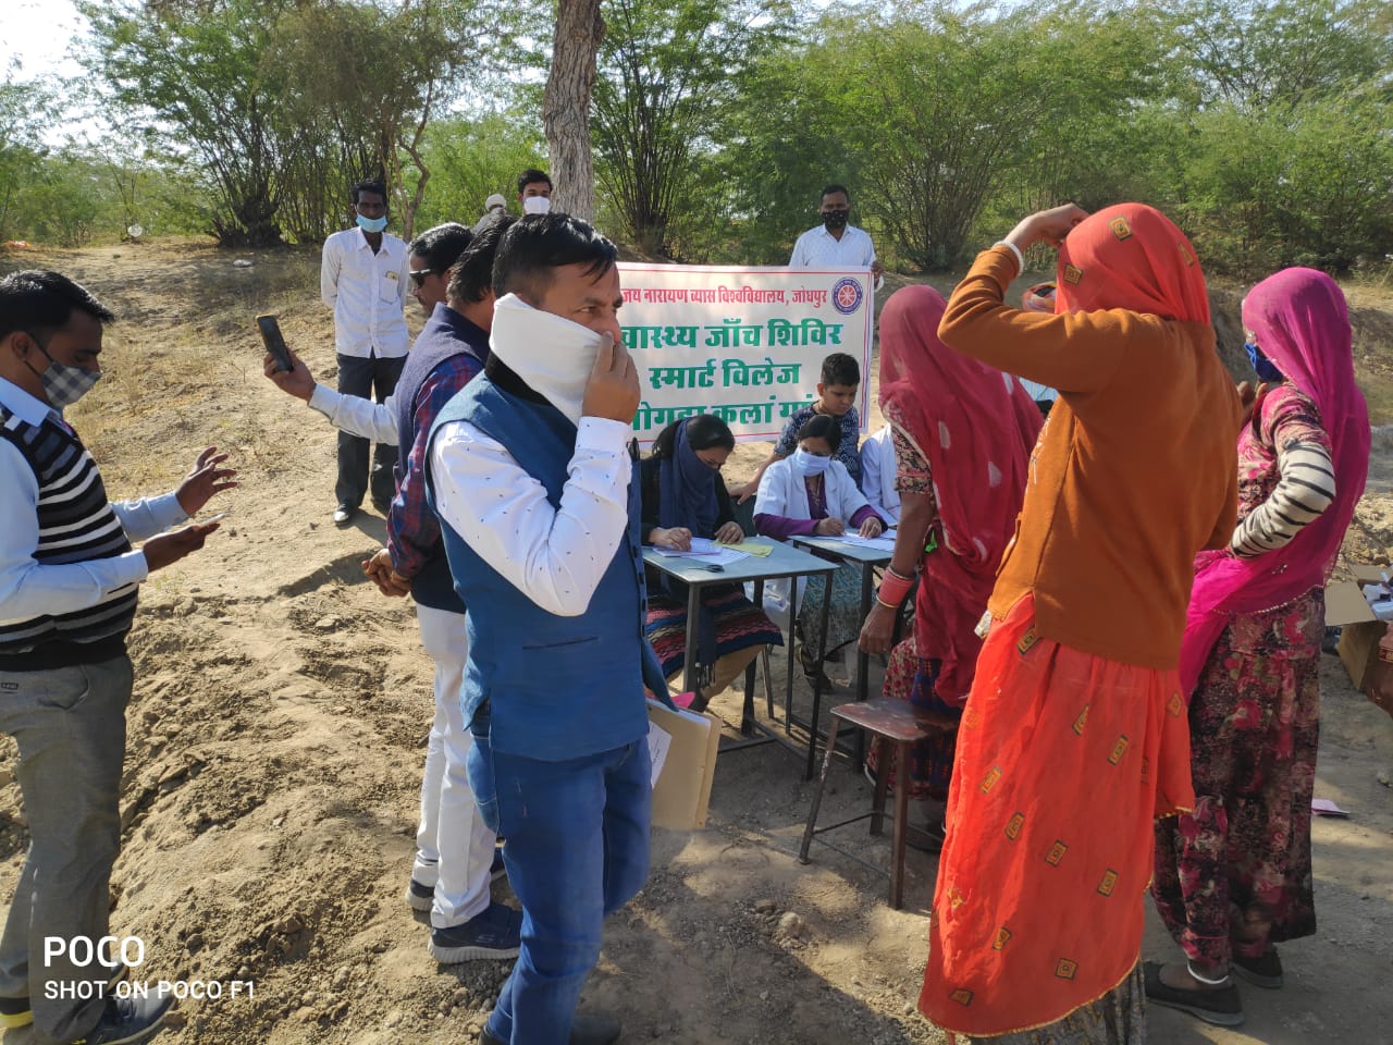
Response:
[[[1321,411],[1330,436],[1334,502],[1282,548],[1255,559],[1204,552],[1195,560],[1180,680],[1188,694],[1234,613],[1252,613],[1323,585],[1369,470],[1369,411],[1354,382],[1350,314],[1340,287],[1315,269],[1283,269],[1243,302],[1263,354]]]

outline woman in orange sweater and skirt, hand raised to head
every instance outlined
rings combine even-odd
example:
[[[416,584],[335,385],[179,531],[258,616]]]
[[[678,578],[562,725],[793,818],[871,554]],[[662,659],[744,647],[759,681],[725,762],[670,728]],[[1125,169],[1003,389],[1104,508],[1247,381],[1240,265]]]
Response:
[[[1003,304],[1061,244],[1055,315]],[[1238,397],[1184,234],[1139,203],[1022,220],[939,337],[1059,389],[958,730],[922,1012],[1006,1045],[1144,1041],[1152,819],[1188,808],[1191,562],[1233,532]]]

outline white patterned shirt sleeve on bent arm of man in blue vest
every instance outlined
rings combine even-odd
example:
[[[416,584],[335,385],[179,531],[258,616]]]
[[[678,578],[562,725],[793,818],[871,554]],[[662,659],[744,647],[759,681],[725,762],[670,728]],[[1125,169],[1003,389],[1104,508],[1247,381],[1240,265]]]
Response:
[[[442,425],[430,443],[440,518],[514,588],[547,613],[585,613],[628,525],[634,431],[582,417],[561,504],[496,439],[468,421]]]

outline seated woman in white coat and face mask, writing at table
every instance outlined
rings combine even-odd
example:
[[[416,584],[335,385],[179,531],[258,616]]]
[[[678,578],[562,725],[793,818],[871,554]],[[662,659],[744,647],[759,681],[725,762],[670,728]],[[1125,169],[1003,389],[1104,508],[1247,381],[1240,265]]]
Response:
[[[832,456],[841,443],[841,425],[834,417],[815,415],[798,429],[798,450],[769,465],[755,496],[755,529],[776,541],[812,535],[841,536],[848,528],[861,536],[879,536],[885,521],[857,489],[841,461]],[[827,581],[814,578],[798,612],[802,628],[800,659],[809,676],[816,676],[820,645],[822,605]],[[861,568],[844,563],[832,574],[832,613],[827,620],[827,653],[861,633]]]

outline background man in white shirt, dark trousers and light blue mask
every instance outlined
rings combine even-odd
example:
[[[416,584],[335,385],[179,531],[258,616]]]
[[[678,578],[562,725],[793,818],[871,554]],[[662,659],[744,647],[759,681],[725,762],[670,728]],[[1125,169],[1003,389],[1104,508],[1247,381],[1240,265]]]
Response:
[[[338,392],[376,396],[382,403],[397,386],[407,361],[407,245],[387,227],[387,188],[380,181],[352,187],[357,229],[325,240],[319,293],[334,312]],[[378,443],[368,472],[368,440],[338,433],[338,482],[334,525],[345,527],[372,488],[372,503],[386,514],[391,504],[397,447]]]

